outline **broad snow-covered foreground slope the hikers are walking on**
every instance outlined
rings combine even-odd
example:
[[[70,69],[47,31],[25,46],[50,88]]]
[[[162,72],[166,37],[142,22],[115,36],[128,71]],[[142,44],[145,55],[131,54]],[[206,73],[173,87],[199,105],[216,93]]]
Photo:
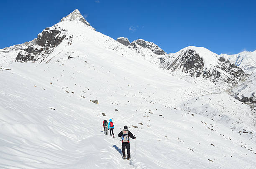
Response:
[[[2,168],[256,166],[254,133],[240,135],[179,108],[183,101],[209,93],[209,86],[199,88],[149,63],[141,65],[112,54],[76,57],[57,64],[1,66]],[[95,99],[99,104],[90,102]],[[240,103],[233,103],[236,100],[232,97],[223,99],[230,107]],[[242,108],[249,111],[246,105]],[[111,139],[101,132],[102,121],[109,118],[115,123],[115,136],[128,125],[137,137],[136,151],[131,140],[130,161],[121,159],[119,138]],[[141,122],[143,125],[138,124]],[[255,130],[253,126],[246,129]]]

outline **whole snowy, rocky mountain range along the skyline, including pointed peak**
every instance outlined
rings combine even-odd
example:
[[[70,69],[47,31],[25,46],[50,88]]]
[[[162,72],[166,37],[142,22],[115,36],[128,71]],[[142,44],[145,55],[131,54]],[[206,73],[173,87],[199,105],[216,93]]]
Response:
[[[74,25],[77,26],[76,29],[73,29]],[[237,55],[218,55],[203,47],[188,46],[177,53],[168,54],[158,45],[143,39],[130,43],[128,38],[120,37],[115,41],[95,31],[79,10],[74,10],[56,25],[45,28],[32,41],[0,49],[0,63],[52,63],[76,56],[85,57],[86,53],[78,53],[75,49],[76,43],[84,41],[80,39],[81,35],[87,37],[87,41],[95,44],[95,47],[115,50],[122,55],[137,55],[159,68],[203,78],[216,85],[223,82],[238,84],[249,73],[255,72],[256,68],[256,59],[253,59],[256,57],[256,51]],[[253,92],[254,90],[251,92],[254,100]]]

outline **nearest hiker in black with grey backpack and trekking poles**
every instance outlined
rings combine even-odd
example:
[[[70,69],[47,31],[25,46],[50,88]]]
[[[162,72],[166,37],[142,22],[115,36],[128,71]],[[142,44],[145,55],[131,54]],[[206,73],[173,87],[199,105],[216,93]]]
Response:
[[[130,159],[130,137],[136,139],[136,136],[133,136],[127,126],[124,126],[123,130],[118,134],[118,137],[122,137],[123,159],[125,159],[125,147],[127,149],[127,159]]]

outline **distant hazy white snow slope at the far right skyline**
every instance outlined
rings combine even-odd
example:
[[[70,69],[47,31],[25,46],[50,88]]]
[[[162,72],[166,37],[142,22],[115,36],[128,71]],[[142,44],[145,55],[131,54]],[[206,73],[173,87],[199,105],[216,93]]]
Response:
[[[256,71],[256,50],[253,52],[243,51],[235,55],[220,55],[228,59],[231,63],[235,63],[238,67],[241,67],[246,73]]]

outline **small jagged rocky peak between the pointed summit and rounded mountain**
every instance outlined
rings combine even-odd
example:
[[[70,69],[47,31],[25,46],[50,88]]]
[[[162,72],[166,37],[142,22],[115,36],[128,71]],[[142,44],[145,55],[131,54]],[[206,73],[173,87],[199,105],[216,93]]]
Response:
[[[148,48],[149,50],[151,50],[153,53],[155,53],[156,55],[163,55],[165,54],[164,50],[162,50],[161,48],[159,48],[158,45],[154,44],[153,42],[148,42],[145,41],[143,39],[138,39],[138,40],[134,40],[129,46],[128,48],[131,48],[133,50],[136,50],[137,53],[140,53],[140,47],[142,48]]]

